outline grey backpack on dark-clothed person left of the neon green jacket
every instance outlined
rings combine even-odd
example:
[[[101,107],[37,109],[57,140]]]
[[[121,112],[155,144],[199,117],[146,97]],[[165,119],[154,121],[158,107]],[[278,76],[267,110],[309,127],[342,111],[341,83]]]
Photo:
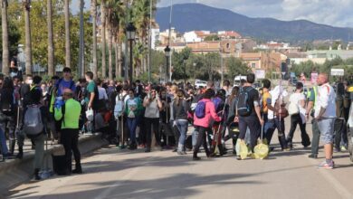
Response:
[[[24,133],[27,136],[37,136],[43,132],[43,119],[40,105],[27,106],[24,114]]]

